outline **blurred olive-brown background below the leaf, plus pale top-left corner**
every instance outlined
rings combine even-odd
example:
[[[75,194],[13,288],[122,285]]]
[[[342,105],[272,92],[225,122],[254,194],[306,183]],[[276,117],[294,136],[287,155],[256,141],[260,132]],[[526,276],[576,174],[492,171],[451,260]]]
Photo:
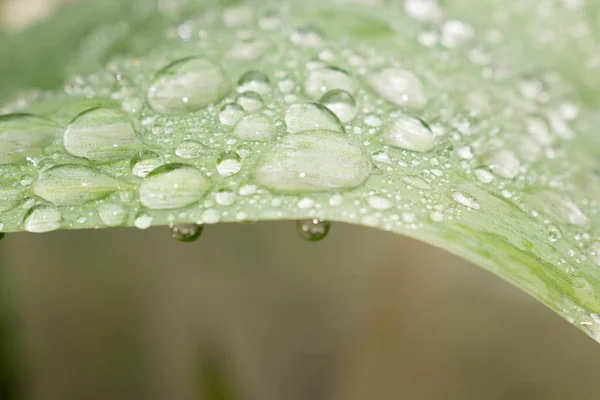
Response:
[[[60,0],[0,0],[21,29]],[[294,222],[12,234],[0,399],[598,398],[600,346],[444,251]]]

